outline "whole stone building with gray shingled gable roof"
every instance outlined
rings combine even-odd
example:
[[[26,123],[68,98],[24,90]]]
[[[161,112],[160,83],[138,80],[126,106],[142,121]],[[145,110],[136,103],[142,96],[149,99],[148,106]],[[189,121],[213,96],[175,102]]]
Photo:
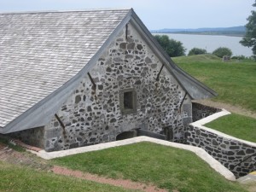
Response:
[[[148,134],[183,142],[216,96],[133,9],[0,14],[0,133],[47,151]]]

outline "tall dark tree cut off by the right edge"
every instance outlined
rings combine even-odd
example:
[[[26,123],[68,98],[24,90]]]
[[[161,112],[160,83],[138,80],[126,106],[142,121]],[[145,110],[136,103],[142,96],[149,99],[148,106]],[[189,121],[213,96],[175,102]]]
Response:
[[[256,0],[255,3],[253,3],[253,7],[256,7]],[[252,15],[250,15],[247,20],[247,32],[241,39],[240,44],[246,47],[252,47],[253,55],[256,56],[256,11],[252,11]]]

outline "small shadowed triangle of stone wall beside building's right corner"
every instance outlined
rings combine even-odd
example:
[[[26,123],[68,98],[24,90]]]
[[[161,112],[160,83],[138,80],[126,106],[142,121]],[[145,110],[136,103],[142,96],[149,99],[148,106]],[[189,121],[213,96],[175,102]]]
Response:
[[[204,119],[213,113],[221,111],[219,108],[212,108],[197,102],[192,102],[193,122]]]

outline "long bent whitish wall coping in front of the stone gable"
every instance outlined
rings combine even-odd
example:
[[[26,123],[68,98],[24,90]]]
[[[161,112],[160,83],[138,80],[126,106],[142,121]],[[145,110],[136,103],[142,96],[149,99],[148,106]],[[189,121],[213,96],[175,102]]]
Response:
[[[104,148],[113,148],[117,146],[123,146],[131,143],[140,143],[140,142],[158,143],[158,144],[169,146],[172,148],[182,148],[184,150],[189,150],[195,153],[196,155],[198,155],[202,160],[205,160],[216,172],[219,172],[226,179],[231,181],[236,181],[236,177],[234,176],[234,174],[230,172],[230,170],[228,170],[226,167],[221,165],[218,162],[218,160],[213,159],[212,156],[210,154],[207,154],[207,152],[204,149],[197,148],[190,145],[184,145],[180,143],[167,142],[164,140],[155,139],[151,137],[133,137],[131,139],[125,139],[125,140],[111,142],[111,143],[100,143],[100,144],[81,147],[81,148],[72,148],[68,150],[54,151],[54,152],[45,152],[44,150],[41,150],[39,152],[32,151],[32,153],[37,154],[39,157],[44,158],[45,160],[50,160],[57,157],[64,157],[71,154],[86,153],[90,151],[102,150]]]

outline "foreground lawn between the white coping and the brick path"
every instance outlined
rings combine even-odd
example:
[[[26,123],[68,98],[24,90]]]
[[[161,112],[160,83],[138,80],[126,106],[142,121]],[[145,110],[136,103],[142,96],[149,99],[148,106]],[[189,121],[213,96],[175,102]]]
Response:
[[[52,161],[82,172],[153,183],[170,191],[245,191],[238,183],[227,181],[213,171],[195,154],[154,143],[136,143]]]

